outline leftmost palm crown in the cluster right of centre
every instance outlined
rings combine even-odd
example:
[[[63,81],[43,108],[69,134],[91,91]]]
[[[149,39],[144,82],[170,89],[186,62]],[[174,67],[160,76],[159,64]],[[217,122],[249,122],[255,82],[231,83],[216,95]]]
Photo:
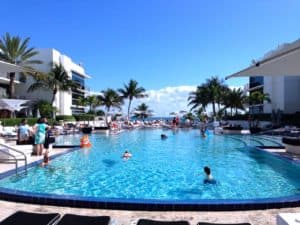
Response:
[[[205,108],[209,104],[209,96],[206,87],[203,85],[198,86],[196,91],[189,94],[188,106],[192,106],[191,110],[200,108],[201,111],[205,111]]]

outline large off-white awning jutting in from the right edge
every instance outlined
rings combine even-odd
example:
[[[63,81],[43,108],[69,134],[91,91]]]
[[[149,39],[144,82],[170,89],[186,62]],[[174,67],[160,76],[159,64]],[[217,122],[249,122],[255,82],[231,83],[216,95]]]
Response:
[[[300,76],[300,41],[283,45],[252,66],[225,77]]]

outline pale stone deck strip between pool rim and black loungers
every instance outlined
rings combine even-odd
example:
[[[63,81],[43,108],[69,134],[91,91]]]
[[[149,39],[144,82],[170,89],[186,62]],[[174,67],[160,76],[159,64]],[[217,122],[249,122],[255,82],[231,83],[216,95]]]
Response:
[[[135,225],[138,219],[154,220],[187,220],[191,225],[197,222],[211,223],[242,223],[248,222],[251,225],[275,225],[276,215],[278,213],[296,213],[300,212],[298,208],[283,208],[270,210],[251,210],[234,212],[177,212],[177,211],[126,211],[126,210],[102,210],[102,209],[84,209],[59,206],[32,205],[15,202],[0,201],[0,221],[12,213],[23,210],[39,213],[73,213],[78,215],[106,215],[110,216],[114,225]]]

